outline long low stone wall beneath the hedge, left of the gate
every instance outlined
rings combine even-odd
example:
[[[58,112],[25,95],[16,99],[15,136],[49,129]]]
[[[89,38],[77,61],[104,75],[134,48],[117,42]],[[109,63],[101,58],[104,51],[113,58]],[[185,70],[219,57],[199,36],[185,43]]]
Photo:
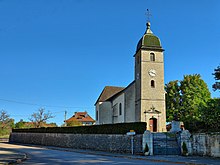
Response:
[[[143,135],[134,136],[134,154],[142,153],[142,137]],[[127,135],[11,133],[9,142],[131,153],[131,138]]]

